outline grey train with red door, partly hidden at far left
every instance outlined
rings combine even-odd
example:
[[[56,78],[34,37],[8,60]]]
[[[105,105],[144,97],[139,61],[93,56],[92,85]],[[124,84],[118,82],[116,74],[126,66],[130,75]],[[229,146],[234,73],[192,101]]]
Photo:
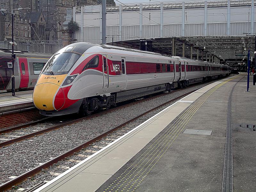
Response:
[[[33,89],[52,54],[14,51],[15,89]],[[12,89],[12,50],[0,49],[0,90]]]

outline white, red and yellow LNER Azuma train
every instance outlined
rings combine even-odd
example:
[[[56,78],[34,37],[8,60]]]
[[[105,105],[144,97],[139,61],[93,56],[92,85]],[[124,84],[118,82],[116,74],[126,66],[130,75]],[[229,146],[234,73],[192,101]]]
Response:
[[[226,76],[229,66],[90,43],[70,44],[46,63],[33,93],[45,116],[91,114],[116,103]]]

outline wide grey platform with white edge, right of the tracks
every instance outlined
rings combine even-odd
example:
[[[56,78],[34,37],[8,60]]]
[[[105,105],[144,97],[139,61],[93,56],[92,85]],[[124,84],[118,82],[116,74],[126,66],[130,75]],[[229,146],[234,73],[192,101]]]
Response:
[[[240,74],[191,93],[35,191],[255,191],[246,84]]]

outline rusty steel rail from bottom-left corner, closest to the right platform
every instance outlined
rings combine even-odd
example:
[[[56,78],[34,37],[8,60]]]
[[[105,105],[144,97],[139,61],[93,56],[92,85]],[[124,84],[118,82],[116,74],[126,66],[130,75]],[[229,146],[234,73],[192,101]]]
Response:
[[[198,90],[198,89],[196,89],[196,90]],[[20,176],[14,178],[14,179],[12,179],[12,180],[7,181],[6,183],[0,185],[0,191],[4,191],[4,190],[7,190],[7,189],[10,189],[12,186],[15,186],[15,185],[17,185],[17,184],[20,184],[21,182],[23,182],[24,180],[26,180],[28,177],[33,177],[36,173],[40,172],[42,169],[46,169],[46,168],[50,167],[50,165],[59,162],[60,160],[64,159],[65,157],[74,155],[74,153],[76,153],[77,151],[79,151],[79,150],[81,150],[81,149],[83,149],[83,148],[85,148],[85,147],[88,147],[88,146],[91,145],[93,142],[102,139],[103,137],[107,136],[109,133],[112,133],[112,132],[116,131],[117,129],[121,128],[122,126],[124,126],[124,125],[126,125],[126,124],[128,124],[128,123],[130,123],[130,122],[133,122],[134,120],[136,120],[136,119],[140,118],[141,116],[144,116],[144,115],[146,115],[146,114],[148,114],[148,113],[150,113],[150,112],[156,110],[157,108],[160,108],[160,107],[162,107],[162,106],[164,106],[164,105],[166,105],[166,104],[169,104],[169,103],[171,103],[171,102],[174,102],[175,100],[178,100],[178,99],[180,99],[180,98],[182,98],[182,97],[184,97],[184,96],[186,96],[186,95],[188,95],[188,94],[190,94],[190,93],[192,93],[192,92],[195,92],[196,90],[191,91],[191,92],[188,92],[188,93],[185,93],[185,94],[183,94],[183,95],[181,95],[181,96],[179,96],[179,97],[176,97],[176,98],[174,98],[174,99],[172,99],[172,100],[169,100],[169,101],[167,101],[167,102],[165,102],[165,103],[163,103],[163,104],[161,104],[161,105],[158,105],[158,106],[156,106],[156,107],[154,107],[154,108],[151,108],[151,109],[149,109],[148,111],[146,111],[146,112],[144,112],[144,113],[141,113],[140,115],[138,115],[138,116],[136,116],[136,117],[133,117],[133,118],[131,118],[131,119],[125,121],[124,123],[119,124],[119,125],[117,125],[116,127],[113,127],[113,128],[111,128],[111,129],[109,129],[108,131],[103,132],[103,133],[101,133],[100,135],[98,135],[98,136],[96,136],[96,137],[94,137],[94,138],[92,138],[92,139],[90,139],[90,140],[88,140],[88,141],[85,141],[84,143],[82,143],[82,144],[80,144],[80,145],[78,145],[78,146],[76,146],[76,147],[74,147],[74,148],[68,150],[67,152],[60,154],[59,156],[57,156],[57,157],[55,157],[55,158],[53,158],[53,159],[51,159],[51,160],[45,162],[44,164],[41,164],[41,165],[35,167],[34,169],[31,169],[31,170],[29,170],[28,172],[25,172],[25,173],[21,174]],[[145,101],[145,100],[143,100],[143,101]],[[127,105],[129,105],[129,104],[127,104]],[[130,104],[130,105],[131,105],[131,104]],[[107,112],[109,112],[109,111],[107,111]],[[102,114],[102,113],[103,113],[103,112],[99,113],[98,115],[100,115],[100,114]],[[96,115],[97,115],[97,114],[96,114]],[[91,117],[91,116],[90,116],[90,117]],[[89,117],[86,117],[86,118],[89,118]],[[70,122],[68,122],[68,123],[70,123]],[[67,124],[68,124],[68,123],[67,123]]]

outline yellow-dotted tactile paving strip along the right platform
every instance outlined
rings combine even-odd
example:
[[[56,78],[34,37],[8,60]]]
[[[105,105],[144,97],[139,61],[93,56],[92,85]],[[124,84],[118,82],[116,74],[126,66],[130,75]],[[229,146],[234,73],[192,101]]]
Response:
[[[239,77],[239,76],[238,76]],[[172,143],[179,136],[189,120],[201,107],[205,100],[220,86],[237,77],[230,78],[210,89],[191,104],[166,131],[156,139],[134,162],[121,173],[104,192],[135,191],[140,183],[147,177],[148,173],[155,167],[157,162],[163,157]]]

